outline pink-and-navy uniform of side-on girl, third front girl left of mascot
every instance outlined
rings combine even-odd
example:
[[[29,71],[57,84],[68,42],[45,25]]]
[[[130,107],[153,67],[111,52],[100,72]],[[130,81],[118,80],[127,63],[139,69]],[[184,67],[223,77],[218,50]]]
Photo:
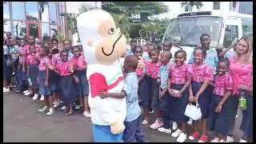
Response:
[[[44,96],[50,96],[50,82],[48,78],[48,86],[45,86],[46,82],[46,69],[47,65],[50,64],[50,59],[48,57],[41,58],[38,66],[38,79],[39,79],[39,91],[38,94]]]

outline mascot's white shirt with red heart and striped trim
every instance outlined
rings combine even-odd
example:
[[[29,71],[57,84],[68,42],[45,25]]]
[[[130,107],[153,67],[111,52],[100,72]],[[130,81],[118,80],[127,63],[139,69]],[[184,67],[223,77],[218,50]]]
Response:
[[[94,76],[95,74],[101,76]],[[90,86],[93,76],[94,82],[92,83],[94,86]],[[122,91],[124,86],[122,64],[118,61],[110,65],[89,64],[87,66],[86,77],[89,81],[90,88],[88,99],[92,122],[101,126],[110,126],[118,120],[124,122],[126,118],[126,97],[102,99],[98,96],[98,93],[94,93],[95,89],[101,89],[104,82],[108,87],[108,93],[120,93]],[[91,90],[91,88],[94,90]]]

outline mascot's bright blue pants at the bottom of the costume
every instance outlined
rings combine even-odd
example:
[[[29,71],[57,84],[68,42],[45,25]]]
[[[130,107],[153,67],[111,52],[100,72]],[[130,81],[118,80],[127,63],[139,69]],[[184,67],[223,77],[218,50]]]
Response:
[[[123,142],[123,133],[112,134],[110,126],[92,124],[94,142]]]

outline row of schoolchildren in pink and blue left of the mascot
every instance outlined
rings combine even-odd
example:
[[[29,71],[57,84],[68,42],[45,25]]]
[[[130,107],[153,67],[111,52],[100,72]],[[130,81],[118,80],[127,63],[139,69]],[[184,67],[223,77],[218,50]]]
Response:
[[[8,40],[6,40],[7,42]],[[86,59],[80,46],[71,46],[70,40],[64,41],[64,48],[58,47],[58,40],[52,40],[52,48],[45,43],[42,46],[34,45],[34,38],[30,37],[28,45],[21,39],[20,46],[10,53],[10,47],[4,48],[4,75],[10,77],[9,62],[18,62],[15,74],[20,92],[29,84],[29,90],[23,91],[24,95],[34,95],[33,100],[39,98],[45,101],[45,106],[40,112],[49,110],[47,114],[54,114],[54,108],[64,103],[62,110],[73,114],[74,102],[79,100],[76,109],[84,107],[83,114],[90,117],[88,106],[89,85],[86,79]],[[17,58],[10,55],[16,54]],[[8,74],[9,73],[9,74]],[[5,78],[4,78],[5,79]],[[4,87],[6,92],[9,88]],[[4,90],[5,91],[5,90]]]

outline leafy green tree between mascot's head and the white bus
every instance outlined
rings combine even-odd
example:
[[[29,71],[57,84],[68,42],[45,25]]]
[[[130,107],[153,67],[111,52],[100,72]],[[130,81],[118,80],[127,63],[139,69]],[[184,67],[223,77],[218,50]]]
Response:
[[[140,31],[147,36],[161,31],[154,29],[158,29],[159,26],[154,24],[155,19],[152,17],[166,13],[168,6],[162,2],[102,2],[102,10],[113,16],[126,38],[138,38]]]

